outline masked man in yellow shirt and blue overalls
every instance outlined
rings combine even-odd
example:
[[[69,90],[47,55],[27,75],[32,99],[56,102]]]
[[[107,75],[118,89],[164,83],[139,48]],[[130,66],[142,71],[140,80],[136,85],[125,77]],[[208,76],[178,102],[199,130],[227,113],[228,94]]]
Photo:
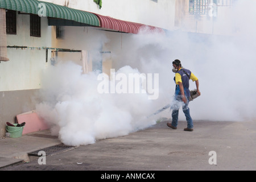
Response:
[[[177,59],[174,60],[172,62],[172,65],[174,67],[172,71],[175,72],[174,80],[176,83],[175,100],[184,102],[182,109],[188,123],[187,128],[185,128],[184,131],[193,131],[193,120],[190,116],[190,111],[188,107],[189,97],[190,97],[189,80],[191,79],[192,81],[196,81],[196,90],[200,96],[201,93],[199,91],[199,81],[198,81],[198,78],[191,71],[181,67],[180,60],[177,60]],[[171,109],[172,109],[172,123],[167,123],[167,126],[175,130],[177,129],[179,107],[171,106]]]

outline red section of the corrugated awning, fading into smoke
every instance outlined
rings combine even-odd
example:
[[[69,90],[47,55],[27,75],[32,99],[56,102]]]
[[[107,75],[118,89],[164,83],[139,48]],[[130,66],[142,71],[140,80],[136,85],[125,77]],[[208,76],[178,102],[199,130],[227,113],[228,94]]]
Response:
[[[101,27],[109,30],[131,34],[138,34],[139,32],[164,32],[162,28],[148,26],[141,23],[127,22],[124,20],[114,19],[110,16],[96,15],[98,16],[98,19],[100,19]]]

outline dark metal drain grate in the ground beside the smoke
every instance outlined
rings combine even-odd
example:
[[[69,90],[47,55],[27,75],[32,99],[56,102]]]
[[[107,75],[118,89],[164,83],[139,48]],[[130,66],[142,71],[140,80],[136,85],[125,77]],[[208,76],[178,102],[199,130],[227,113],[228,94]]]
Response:
[[[70,150],[72,148],[75,148],[74,146],[66,146],[65,144],[57,144],[56,146],[51,146],[51,147],[47,147],[47,148],[42,148],[40,150],[36,150],[33,152],[28,152],[28,155],[32,155],[32,156],[39,156],[38,153],[39,151],[44,151],[46,152],[46,156],[47,155],[53,155],[53,154],[57,154],[59,152],[63,152],[66,150]]]

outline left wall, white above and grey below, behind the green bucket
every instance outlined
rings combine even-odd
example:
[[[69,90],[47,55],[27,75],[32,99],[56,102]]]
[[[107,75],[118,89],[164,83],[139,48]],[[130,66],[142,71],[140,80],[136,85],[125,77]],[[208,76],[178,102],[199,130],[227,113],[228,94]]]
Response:
[[[17,34],[7,35],[7,46],[51,47],[51,27],[41,18],[41,37],[30,36],[30,15],[18,14]],[[0,63],[0,136],[5,123],[15,116],[35,109],[34,94],[40,88],[40,77],[46,68],[46,49],[7,48],[10,61]]]

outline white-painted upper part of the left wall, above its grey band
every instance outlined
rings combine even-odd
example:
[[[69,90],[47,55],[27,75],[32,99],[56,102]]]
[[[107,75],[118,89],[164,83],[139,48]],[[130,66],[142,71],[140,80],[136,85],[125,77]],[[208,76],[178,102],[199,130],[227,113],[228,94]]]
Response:
[[[7,46],[51,47],[51,27],[41,18],[41,38],[30,36],[30,15],[17,13],[17,34],[7,35]],[[10,61],[0,63],[0,91],[40,88],[46,67],[45,49],[7,48]]]

